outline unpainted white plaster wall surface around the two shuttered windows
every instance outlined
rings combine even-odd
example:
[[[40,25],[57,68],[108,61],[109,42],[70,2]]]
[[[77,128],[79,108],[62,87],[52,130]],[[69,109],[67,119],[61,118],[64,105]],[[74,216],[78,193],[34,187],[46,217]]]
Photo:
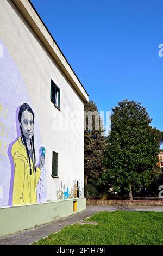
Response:
[[[0,39],[26,84],[46,148],[47,200],[56,200],[61,181],[70,188],[75,179],[84,185],[84,103],[12,1],[1,0],[0,9]],[[60,111],[50,100],[51,79],[60,88]],[[66,129],[65,120],[76,129]],[[52,151],[58,153],[59,179],[51,177]]]

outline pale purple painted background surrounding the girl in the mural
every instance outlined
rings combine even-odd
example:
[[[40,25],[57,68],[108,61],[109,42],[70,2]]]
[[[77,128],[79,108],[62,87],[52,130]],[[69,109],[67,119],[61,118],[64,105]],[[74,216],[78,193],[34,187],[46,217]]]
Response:
[[[32,107],[26,84],[24,84],[14,61],[0,40],[0,206],[12,205],[12,186],[14,179],[14,163],[11,148],[20,137],[18,110],[26,102]],[[42,145],[37,116],[34,124],[36,164],[39,164],[40,147]],[[45,155],[46,166],[46,155]],[[41,172],[37,186],[37,202],[46,201],[45,167]]]

